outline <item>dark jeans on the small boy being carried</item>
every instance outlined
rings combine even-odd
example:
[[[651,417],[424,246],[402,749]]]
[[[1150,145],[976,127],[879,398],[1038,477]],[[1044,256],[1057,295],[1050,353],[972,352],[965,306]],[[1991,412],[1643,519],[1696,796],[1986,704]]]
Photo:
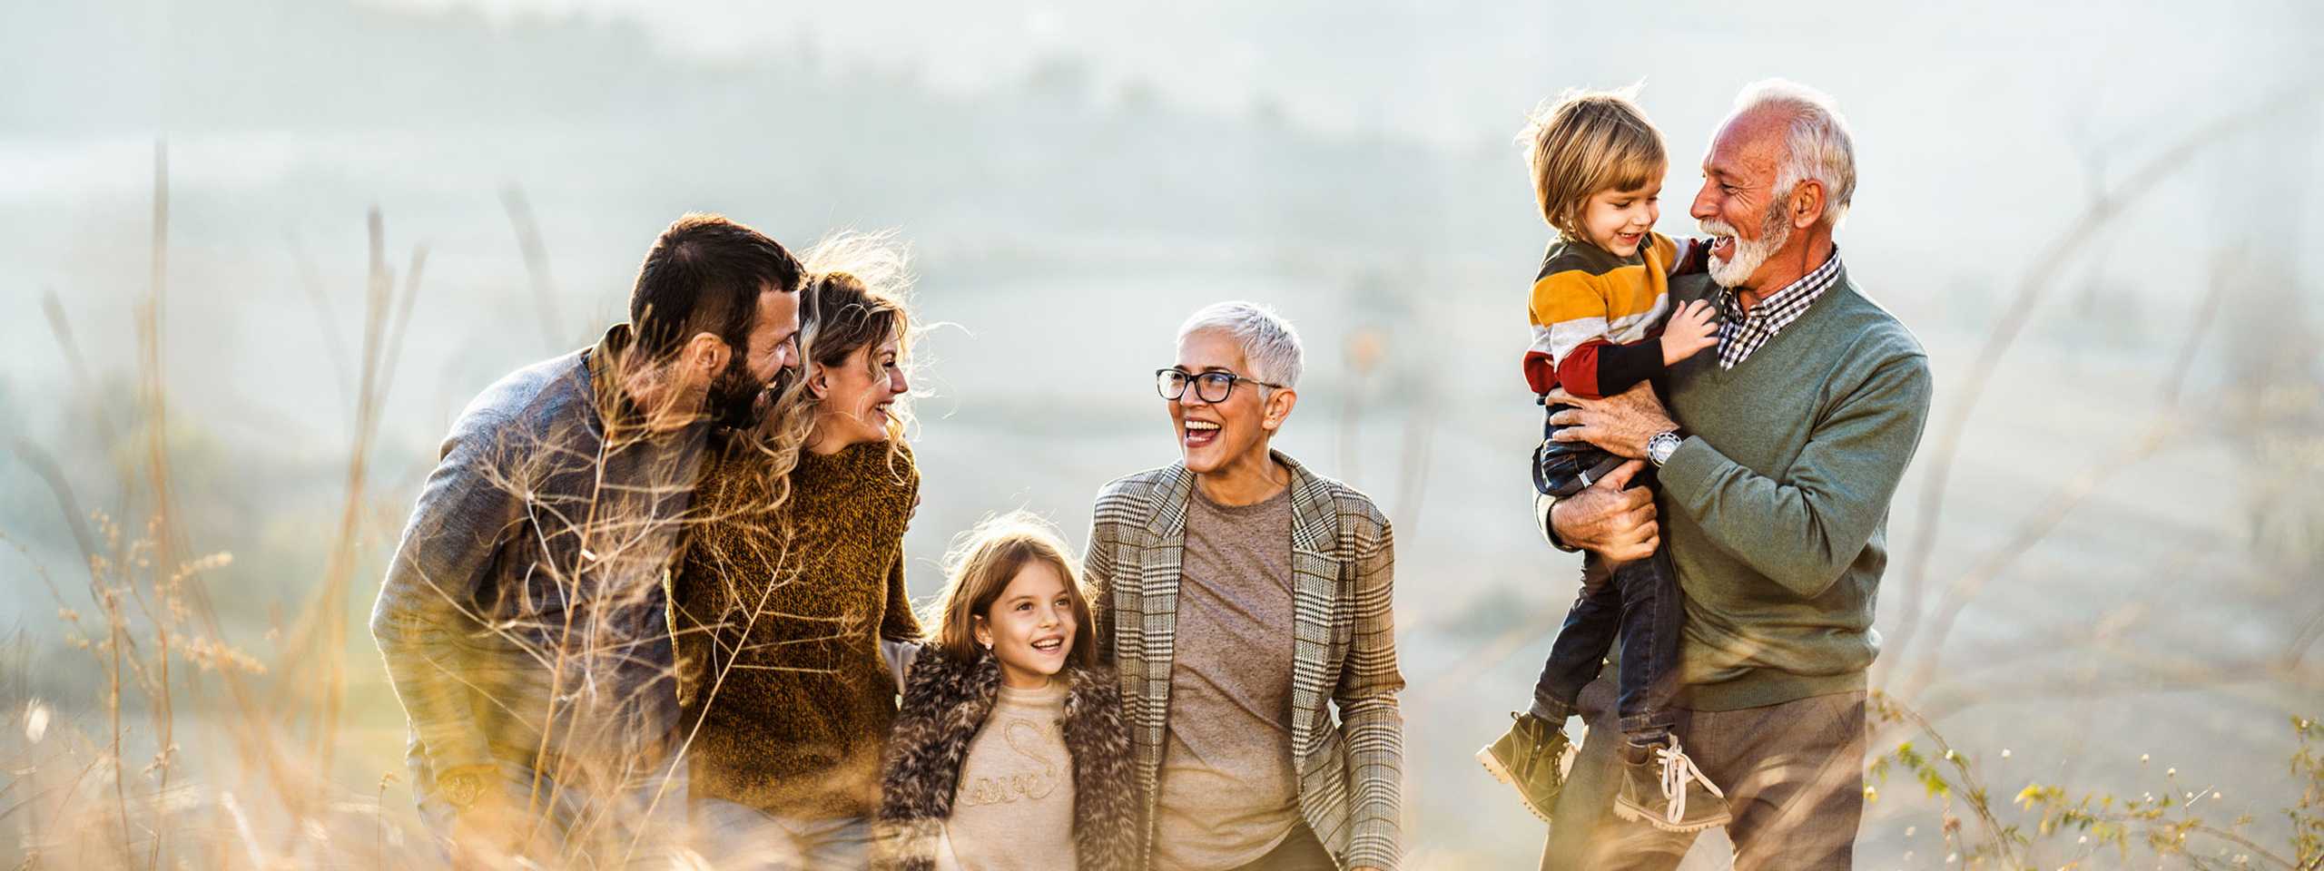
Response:
[[[1634,488],[1652,485],[1650,474],[1638,474]],[[1590,555],[1590,560],[1599,560]],[[1687,604],[1678,592],[1678,569],[1671,553],[1655,550],[1652,557],[1624,562],[1611,578],[1592,585],[1590,567],[1583,569],[1583,592],[1566,611],[1564,629],[1550,646],[1550,662],[1541,667],[1541,683],[1534,699],[1548,701],[1550,711],[1573,711],[1573,701],[1590,681],[1597,681],[1606,664],[1606,650],[1622,639],[1620,697],[1615,713],[1622,732],[1636,743],[1648,743],[1671,732],[1671,701],[1678,694],[1678,632]]]

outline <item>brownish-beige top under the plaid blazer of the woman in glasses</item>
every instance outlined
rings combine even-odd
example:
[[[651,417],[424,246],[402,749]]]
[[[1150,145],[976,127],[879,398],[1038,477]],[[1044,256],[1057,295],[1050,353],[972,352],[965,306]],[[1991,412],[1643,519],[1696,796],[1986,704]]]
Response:
[[[1178,581],[1155,869],[1234,869],[1299,825],[1292,773],[1290,490],[1222,506],[1195,488]]]

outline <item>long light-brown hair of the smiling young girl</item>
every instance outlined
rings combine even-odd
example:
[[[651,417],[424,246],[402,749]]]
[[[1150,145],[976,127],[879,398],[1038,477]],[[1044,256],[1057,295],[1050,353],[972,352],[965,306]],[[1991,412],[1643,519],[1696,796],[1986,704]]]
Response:
[[[985,518],[974,530],[953,539],[944,555],[946,583],[937,597],[934,636],[930,639],[944,655],[974,662],[978,655],[976,618],[988,618],[992,602],[1009,590],[1009,581],[1032,562],[1046,562],[1064,581],[1064,595],[1074,606],[1074,650],[1067,664],[1083,669],[1097,664],[1097,620],[1090,616],[1090,599],[1081,592],[1081,560],[1064,546],[1057,527],[1032,511],[1009,511]]]

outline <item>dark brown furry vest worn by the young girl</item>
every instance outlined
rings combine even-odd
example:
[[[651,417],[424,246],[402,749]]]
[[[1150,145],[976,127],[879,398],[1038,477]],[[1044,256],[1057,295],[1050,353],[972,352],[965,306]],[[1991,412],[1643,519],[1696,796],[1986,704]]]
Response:
[[[1074,757],[1074,850],[1085,871],[1127,871],[1134,862],[1129,729],[1113,671],[1067,667],[1064,750]],[[904,683],[904,708],[888,736],[881,778],[878,869],[932,871],[953,815],[969,741],[999,694],[999,660],[957,662],[930,646]]]

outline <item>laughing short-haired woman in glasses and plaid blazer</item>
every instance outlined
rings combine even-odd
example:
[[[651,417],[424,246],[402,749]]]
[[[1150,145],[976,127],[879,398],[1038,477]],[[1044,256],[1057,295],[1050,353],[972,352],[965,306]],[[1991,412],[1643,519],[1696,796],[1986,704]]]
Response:
[[[1394,869],[1397,557],[1371,497],[1269,448],[1299,402],[1299,334],[1213,304],[1155,379],[1181,460],[1097,492],[1088,557],[1141,866]]]

